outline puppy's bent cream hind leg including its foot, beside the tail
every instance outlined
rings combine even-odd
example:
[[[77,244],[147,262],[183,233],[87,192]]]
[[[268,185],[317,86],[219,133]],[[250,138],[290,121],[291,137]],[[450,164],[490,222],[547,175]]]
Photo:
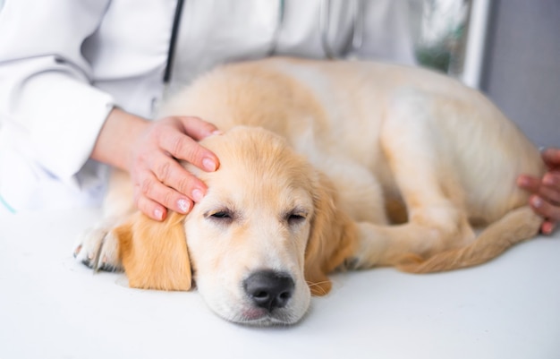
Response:
[[[361,222],[353,268],[396,265],[471,243],[450,151],[430,112],[430,98],[413,90],[395,95],[381,132],[381,147],[403,196],[409,222],[379,226]]]

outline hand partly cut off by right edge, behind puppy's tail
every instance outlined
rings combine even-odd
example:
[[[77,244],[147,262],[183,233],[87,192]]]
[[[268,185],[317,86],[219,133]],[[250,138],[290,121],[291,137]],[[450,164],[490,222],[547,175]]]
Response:
[[[560,149],[544,150],[542,158],[547,173],[542,178],[520,175],[517,184],[531,193],[530,207],[545,218],[540,231],[550,235],[560,222]]]

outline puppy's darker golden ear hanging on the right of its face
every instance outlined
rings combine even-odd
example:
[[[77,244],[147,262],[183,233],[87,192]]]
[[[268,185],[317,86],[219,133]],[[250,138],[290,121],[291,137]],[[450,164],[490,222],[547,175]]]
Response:
[[[352,255],[356,244],[356,227],[336,207],[334,185],[326,175],[318,174],[315,184],[315,213],[305,251],[305,280],[312,295],[327,295],[332,283],[327,274]]]

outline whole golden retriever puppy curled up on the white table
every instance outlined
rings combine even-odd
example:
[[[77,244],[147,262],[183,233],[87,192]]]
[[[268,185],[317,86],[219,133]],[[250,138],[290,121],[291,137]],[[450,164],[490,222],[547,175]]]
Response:
[[[132,209],[116,172],[106,215],[75,253],[133,287],[188,290],[228,321],[301,320],[335,269],[476,265],[539,231],[517,175],[536,150],[476,90],[418,68],[273,58],[229,64],[168,101],[225,133],[187,216]],[[474,227],[485,227],[477,236]]]

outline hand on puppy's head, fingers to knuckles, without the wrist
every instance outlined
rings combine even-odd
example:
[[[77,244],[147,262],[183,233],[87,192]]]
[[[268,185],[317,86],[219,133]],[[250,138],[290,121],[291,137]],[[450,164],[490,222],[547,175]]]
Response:
[[[217,132],[198,117],[165,117],[149,124],[133,146],[129,172],[134,203],[148,217],[165,218],[165,209],[188,213],[207,187],[185,170],[177,159],[207,172],[216,171],[218,159],[198,141]]]

